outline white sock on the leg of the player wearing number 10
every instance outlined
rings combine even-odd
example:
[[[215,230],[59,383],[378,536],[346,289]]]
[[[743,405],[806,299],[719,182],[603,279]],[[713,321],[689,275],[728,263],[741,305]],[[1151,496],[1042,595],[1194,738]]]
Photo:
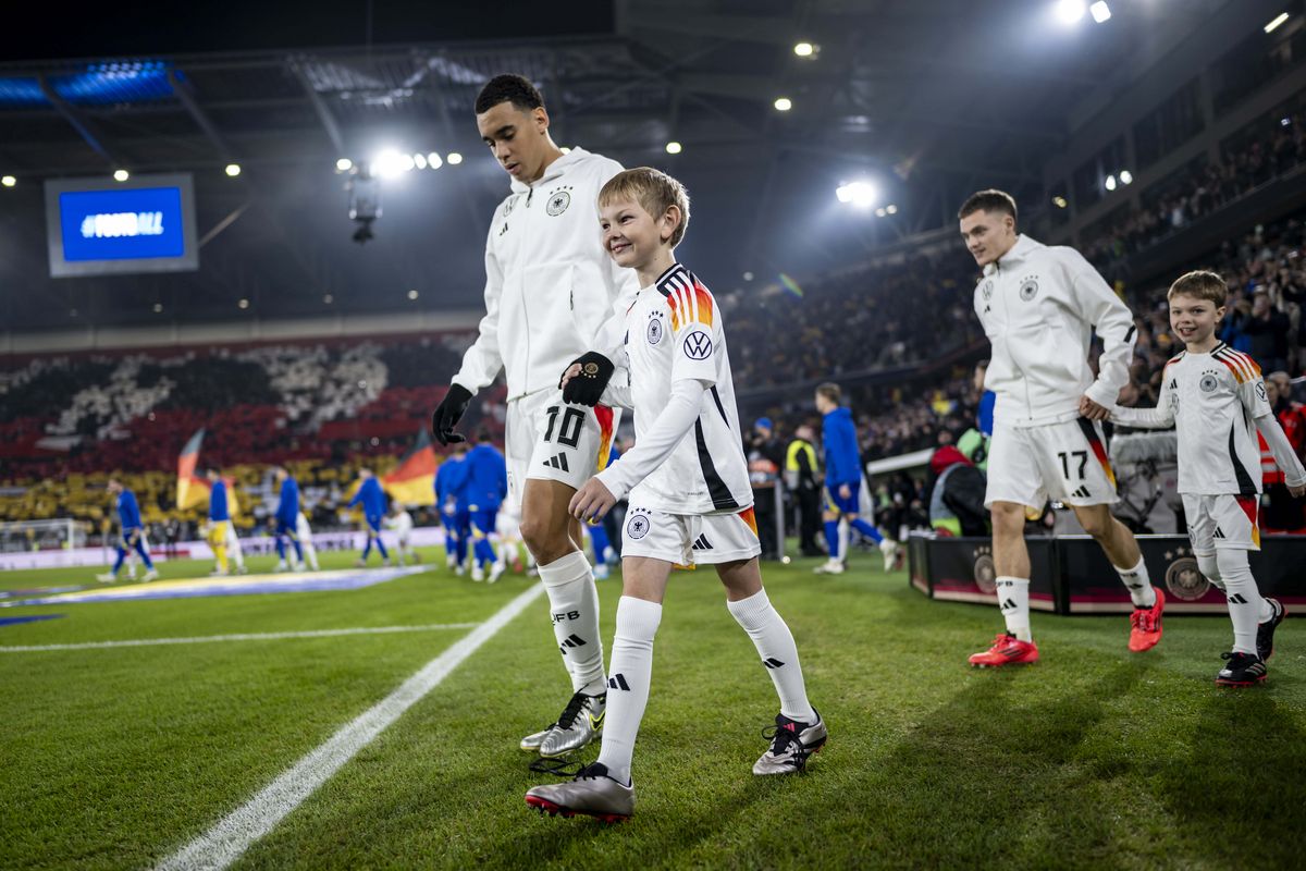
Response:
[[[554,637],[572,678],[572,692],[590,696],[607,691],[603,641],[598,635],[598,590],[594,572],[580,551],[539,567],[549,594]]]

